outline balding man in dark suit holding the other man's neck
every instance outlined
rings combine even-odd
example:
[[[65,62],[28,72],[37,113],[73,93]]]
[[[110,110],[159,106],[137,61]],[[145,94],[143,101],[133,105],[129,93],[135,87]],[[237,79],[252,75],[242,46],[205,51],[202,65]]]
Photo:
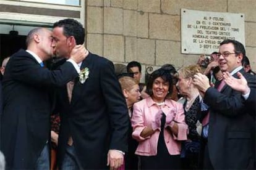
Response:
[[[1,150],[7,169],[49,169],[49,88],[62,86],[79,73],[84,47],[74,48],[70,60],[59,70],[42,67],[53,55],[52,32],[35,28],[28,33],[27,51],[11,56],[4,73]],[[75,55],[75,56],[73,56]]]

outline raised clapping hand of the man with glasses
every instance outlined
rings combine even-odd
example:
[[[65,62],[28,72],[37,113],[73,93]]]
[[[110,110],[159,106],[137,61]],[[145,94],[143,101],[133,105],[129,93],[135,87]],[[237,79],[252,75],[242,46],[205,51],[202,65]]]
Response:
[[[207,76],[197,73],[194,75],[193,84],[198,88],[199,91],[205,93],[210,86],[209,79]]]

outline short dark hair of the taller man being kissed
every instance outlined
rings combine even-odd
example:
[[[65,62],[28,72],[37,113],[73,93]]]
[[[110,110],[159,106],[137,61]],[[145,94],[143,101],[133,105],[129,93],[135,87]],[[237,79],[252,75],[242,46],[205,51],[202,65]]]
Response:
[[[53,24],[53,28],[55,27],[62,27],[63,34],[66,37],[74,36],[77,45],[81,45],[83,42],[85,42],[85,29],[77,20],[72,18],[59,20]]]

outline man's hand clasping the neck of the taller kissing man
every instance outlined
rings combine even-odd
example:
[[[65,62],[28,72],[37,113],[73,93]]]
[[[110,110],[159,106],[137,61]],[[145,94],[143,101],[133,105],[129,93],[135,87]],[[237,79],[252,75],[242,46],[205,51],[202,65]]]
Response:
[[[74,60],[74,62],[76,63],[80,63],[87,57],[88,54],[89,52],[87,51],[87,49],[85,49],[83,45],[77,45],[70,52],[69,59]]]

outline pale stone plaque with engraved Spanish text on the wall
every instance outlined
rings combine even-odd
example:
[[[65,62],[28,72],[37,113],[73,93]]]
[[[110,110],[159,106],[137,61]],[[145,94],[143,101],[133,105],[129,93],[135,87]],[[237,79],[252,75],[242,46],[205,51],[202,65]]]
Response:
[[[181,9],[181,53],[218,52],[224,39],[235,39],[245,46],[244,14]]]

